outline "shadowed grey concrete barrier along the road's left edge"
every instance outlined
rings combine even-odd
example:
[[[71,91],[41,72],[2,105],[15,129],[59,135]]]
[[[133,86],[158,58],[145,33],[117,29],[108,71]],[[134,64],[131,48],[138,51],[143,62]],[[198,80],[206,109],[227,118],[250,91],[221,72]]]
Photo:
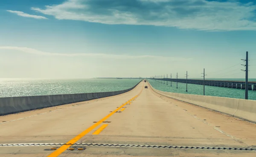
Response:
[[[140,81],[141,82],[141,81]],[[139,83],[140,83],[139,82]],[[81,93],[81,94],[60,94],[60,95],[41,95],[28,97],[1,97],[0,98],[0,116],[14,114],[23,111],[30,111],[40,108],[59,106],[68,103],[76,103],[86,100],[110,97],[122,94],[134,89],[139,83],[129,89],[122,91],[109,91],[98,93]]]

